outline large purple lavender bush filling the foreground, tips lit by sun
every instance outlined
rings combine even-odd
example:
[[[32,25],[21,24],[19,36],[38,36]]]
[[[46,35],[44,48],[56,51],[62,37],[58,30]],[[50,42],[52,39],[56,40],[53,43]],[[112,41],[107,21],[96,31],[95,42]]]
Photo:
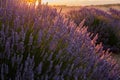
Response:
[[[77,27],[46,5],[0,2],[1,80],[119,80],[116,62]],[[8,4],[7,4],[8,3]]]

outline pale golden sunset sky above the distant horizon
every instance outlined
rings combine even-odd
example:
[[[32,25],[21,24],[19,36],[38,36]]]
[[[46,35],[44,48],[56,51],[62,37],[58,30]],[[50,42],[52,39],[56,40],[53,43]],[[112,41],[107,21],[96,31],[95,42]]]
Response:
[[[50,5],[97,5],[120,3],[120,0],[42,0],[42,3]]]

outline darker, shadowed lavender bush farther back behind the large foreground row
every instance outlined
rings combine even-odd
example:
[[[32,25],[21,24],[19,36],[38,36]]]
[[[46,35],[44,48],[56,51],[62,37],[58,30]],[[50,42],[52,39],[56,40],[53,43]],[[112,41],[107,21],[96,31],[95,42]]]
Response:
[[[83,7],[79,11],[70,11],[68,17],[77,25],[85,18],[88,32],[98,34],[97,44],[103,43],[104,50],[110,48],[114,53],[120,52],[120,11],[110,8],[108,12]],[[91,39],[93,39],[91,37]]]

